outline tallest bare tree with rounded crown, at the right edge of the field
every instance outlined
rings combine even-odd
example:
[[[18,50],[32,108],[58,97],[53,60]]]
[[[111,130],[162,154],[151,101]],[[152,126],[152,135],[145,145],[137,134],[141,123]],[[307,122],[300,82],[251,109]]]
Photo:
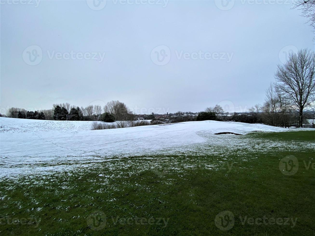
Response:
[[[284,65],[278,65],[275,78],[279,91],[298,112],[299,126],[303,124],[303,111],[315,101],[315,53],[302,49],[290,53]]]

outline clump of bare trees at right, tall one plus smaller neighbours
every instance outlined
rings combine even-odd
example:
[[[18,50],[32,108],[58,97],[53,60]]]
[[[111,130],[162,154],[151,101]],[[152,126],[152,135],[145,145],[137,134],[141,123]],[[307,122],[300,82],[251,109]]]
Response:
[[[284,65],[278,65],[275,80],[266,89],[261,110],[263,120],[272,126],[288,127],[294,120],[299,127],[305,113],[314,109],[315,53],[301,49],[290,53]]]

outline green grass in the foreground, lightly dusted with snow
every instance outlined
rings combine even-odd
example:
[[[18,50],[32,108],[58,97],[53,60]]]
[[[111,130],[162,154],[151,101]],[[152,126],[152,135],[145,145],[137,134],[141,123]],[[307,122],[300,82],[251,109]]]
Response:
[[[315,162],[315,151],[305,148],[314,143],[314,132],[253,133],[240,138],[257,144],[281,141],[291,148],[242,149],[223,156],[139,156],[71,172],[2,180],[0,234],[314,235],[315,170],[312,165],[305,167]],[[289,176],[279,170],[279,162],[292,155],[299,169]],[[95,211],[102,213],[96,212],[96,221],[89,221]],[[215,224],[221,211],[234,216],[227,231]],[[291,220],[289,225],[242,224],[240,216],[297,220],[294,227]],[[129,224],[115,224],[117,217],[129,219]],[[19,223],[21,218],[29,224]],[[38,226],[35,218],[40,218]],[[100,230],[91,229],[97,226]]]

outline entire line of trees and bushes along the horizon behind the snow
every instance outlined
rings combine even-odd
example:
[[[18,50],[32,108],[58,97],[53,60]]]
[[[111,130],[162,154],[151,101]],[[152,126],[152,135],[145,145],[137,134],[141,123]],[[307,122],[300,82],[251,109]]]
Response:
[[[183,117],[181,112],[175,113],[174,122],[194,120],[240,121],[246,123],[264,123],[272,126],[302,127],[305,115],[312,115],[315,105],[315,53],[301,49],[290,53],[284,65],[278,65],[274,74],[275,82],[266,89],[263,105],[256,104],[249,108],[248,114],[227,116],[220,105],[208,107],[199,113],[198,119],[192,115]],[[26,111],[20,108],[10,108],[8,117],[46,120],[70,121],[105,121],[118,122],[120,127],[128,126],[128,121],[134,120],[134,114],[120,101],[110,101],[103,108],[100,105],[78,107],[69,103],[53,104],[53,109]],[[147,115],[153,120],[154,115]],[[311,117],[312,118],[312,117]]]

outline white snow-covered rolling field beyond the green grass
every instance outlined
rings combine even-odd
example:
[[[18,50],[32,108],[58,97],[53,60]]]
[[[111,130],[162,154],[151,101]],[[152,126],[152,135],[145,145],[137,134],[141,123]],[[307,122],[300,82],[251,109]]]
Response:
[[[106,160],[140,155],[207,154],[215,148],[255,145],[240,140],[252,131],[289,129],[220,121],[194,121],[167,125],[90,130],[92,121],[45,121],[0,117],[0,177],[59,171]],[[236,144],[236,145],[235,145]],[[276,144],[269,144],[269,146]],[[207,148],[205,148],[207,147]],[[287,148],[287,147],[286,147]],[[220,155],[219,152],[217,152]]]

